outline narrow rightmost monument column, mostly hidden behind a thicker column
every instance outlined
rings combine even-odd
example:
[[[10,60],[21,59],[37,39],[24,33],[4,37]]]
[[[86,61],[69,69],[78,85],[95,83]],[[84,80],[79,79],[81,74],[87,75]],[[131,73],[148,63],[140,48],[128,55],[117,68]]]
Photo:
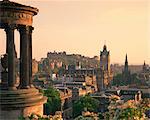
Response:
[[[32,31],[33,27],[29,27],[29,85],[34,87],[32,83]]]

